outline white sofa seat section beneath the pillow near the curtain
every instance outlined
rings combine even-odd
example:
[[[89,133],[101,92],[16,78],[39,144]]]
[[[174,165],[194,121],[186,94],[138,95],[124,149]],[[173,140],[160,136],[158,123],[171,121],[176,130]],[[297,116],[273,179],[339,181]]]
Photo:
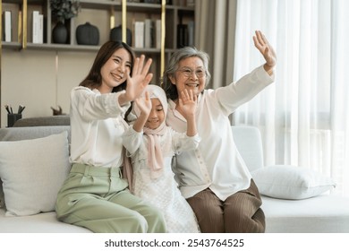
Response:
[[[349,233],[347,197],[319,195],[305,200],[282,200],[262,195],[261,199],[266,233]]]

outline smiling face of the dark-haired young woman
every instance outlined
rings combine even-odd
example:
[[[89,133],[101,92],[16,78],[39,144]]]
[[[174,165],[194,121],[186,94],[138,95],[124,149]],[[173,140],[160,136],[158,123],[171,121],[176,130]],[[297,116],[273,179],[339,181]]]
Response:
[[[114,87],[126,80],[127,74],[130,74],[131,70],[131,58],[130,53],[126,49],[119,48],[115,50],[100,70],[102,84],[98,90],[101,93],[111,92]]]

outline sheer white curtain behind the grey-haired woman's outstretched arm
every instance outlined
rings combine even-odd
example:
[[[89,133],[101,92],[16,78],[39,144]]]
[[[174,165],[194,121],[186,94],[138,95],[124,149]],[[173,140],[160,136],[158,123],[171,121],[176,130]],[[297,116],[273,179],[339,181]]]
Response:
[[[310,167],[349,196],[349,1],[238,0],[234,80],[264,63],[254,30],[277,51],[276,82],[234,125],[260,127],[265,165]]]

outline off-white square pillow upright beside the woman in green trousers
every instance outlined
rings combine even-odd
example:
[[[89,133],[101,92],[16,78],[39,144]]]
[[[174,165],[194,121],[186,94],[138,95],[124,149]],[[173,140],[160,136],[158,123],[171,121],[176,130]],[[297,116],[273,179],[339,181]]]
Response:
[[[6,216],[54,211],[70,166],[66,131],[33,140],[0,142]]]

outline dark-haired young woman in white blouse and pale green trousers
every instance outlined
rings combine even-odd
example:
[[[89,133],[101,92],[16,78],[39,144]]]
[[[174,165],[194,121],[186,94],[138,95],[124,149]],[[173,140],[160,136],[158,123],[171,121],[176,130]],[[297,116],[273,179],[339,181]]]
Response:
[[[131,194],[122,134],[131,101],[148,86],[151,59],[108,41],[71,92],[72,169],[57,196],[57,218],[93,232],[166,232],[155,207]]]

